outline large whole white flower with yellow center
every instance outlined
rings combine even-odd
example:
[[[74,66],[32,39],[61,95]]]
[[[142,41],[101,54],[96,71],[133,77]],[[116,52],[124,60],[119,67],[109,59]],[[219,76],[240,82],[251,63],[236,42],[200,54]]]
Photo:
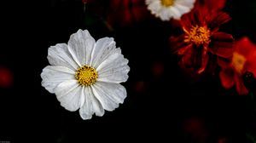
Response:
[[[79,30],[67,44],[49,47],[47,58],[51,66],[41,73],[42,86],[68,111],[80,108],[80,116],[90,119],[124,102],[126,90],[119,83],[127,80],[130,67],[112,37],[95,41],[89,31]]]

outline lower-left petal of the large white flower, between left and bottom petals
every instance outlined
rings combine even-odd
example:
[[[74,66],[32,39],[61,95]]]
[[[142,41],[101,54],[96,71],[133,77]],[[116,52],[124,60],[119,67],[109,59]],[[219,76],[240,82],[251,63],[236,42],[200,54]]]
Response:
[[[82,87],[79,86],[77,80],[68,80],[60,83],[55,88],[57,99],[61,102],[61,106],[70,112],[74,112],[81,106],[81,95],[83,95]]]

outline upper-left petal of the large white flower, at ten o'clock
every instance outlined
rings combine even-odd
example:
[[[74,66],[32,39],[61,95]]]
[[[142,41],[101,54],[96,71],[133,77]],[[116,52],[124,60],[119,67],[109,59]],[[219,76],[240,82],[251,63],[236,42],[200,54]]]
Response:
[[[78,64],[73,60],[66,43],[58,43],[55,46],[50,46],[47,59],[52,66],[66,66],[73,70],[78,68]]]

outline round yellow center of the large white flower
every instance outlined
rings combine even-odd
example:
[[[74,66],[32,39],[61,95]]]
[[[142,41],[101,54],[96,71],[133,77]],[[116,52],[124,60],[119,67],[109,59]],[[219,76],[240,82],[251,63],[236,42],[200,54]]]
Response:
[[[89,86],[96,82],[96,78],[98,74],[96,69],[91,66],[82,66],[79,67],[75,74],[76,79],[78,80],[79,84],[82,86]]]

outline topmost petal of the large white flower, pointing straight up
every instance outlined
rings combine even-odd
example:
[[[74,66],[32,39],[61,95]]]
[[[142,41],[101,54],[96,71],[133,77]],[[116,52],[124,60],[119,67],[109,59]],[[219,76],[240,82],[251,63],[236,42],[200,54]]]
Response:
[[[95,39],[90,36],[89,31],[80,30],[70,36],[68,50],[79,66],[89,65],[91,52],[95,46]]]

